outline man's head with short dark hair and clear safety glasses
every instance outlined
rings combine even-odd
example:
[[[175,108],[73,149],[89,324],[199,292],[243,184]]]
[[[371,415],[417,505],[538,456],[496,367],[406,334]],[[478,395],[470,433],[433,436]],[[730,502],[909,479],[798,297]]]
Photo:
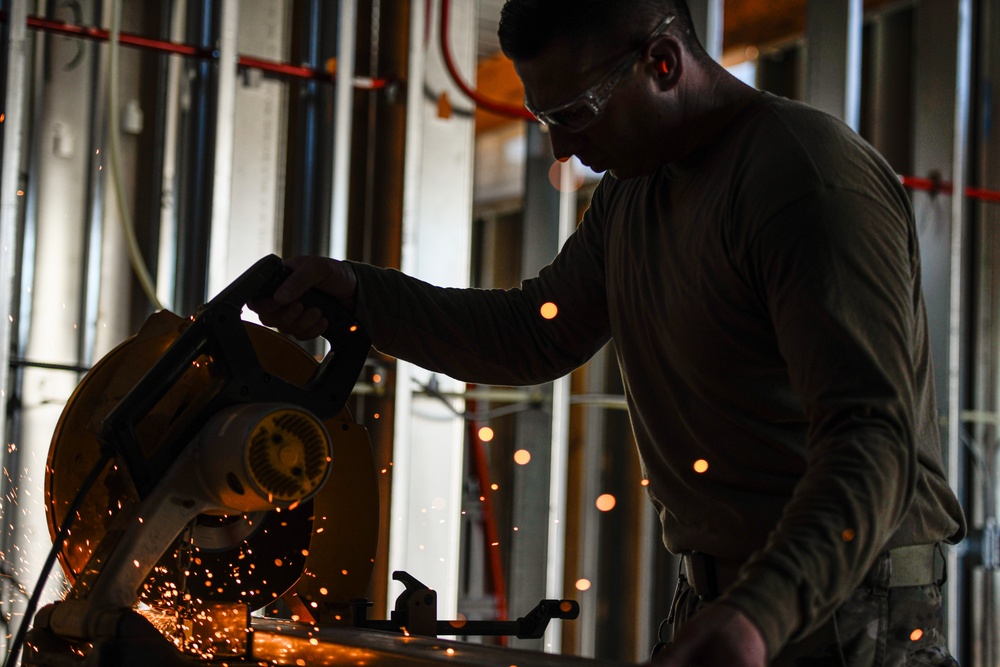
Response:
[[[682,154],[682,89],[713,62],[684,0],[507,0],[499,35],[557,158],[630,177]]]

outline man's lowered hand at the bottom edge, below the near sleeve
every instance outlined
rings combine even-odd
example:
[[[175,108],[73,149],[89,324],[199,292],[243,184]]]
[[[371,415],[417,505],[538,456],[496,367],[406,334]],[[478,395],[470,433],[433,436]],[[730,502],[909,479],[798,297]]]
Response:
[[[686,622],[654,667],[765,667],[767,646],[742,611],[720,603]]]

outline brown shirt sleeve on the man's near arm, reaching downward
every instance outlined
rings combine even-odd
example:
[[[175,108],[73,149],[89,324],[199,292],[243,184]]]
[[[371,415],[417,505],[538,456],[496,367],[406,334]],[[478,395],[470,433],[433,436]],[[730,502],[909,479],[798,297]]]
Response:
[[[914,496],[919,273],[908,209],[895,208],[820,188],[749,246],[746,275],[808,421],[806,472],[726,595],[772,657],[859,585]]]

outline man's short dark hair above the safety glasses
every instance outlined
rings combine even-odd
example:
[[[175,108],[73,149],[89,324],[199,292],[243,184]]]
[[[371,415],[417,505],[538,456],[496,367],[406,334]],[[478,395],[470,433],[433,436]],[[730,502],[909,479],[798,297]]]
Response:
[[[584,46],[609,32],[635,24],[635,38],[646,23],[674,14],[674,23],[697,55],[705,49],[695,34],[685,0],[507,0],[500,11],[500,48],[512,60],[531,60],[553,42],[568,39]]]

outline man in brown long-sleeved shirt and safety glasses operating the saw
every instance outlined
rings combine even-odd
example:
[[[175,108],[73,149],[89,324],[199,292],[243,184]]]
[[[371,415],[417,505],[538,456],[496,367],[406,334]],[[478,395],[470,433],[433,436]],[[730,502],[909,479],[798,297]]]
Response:
[[[379,349],[480,383],[551,380],[610,339],[684,554],[655,664],[955,664],[935,545],[965,522],[892,170],[730,76],[683,0],[508,0],[500,37],[556,157],[607,171],[552,264],[501,291],[300,259],[262,319],[318,335],[296,300],[315,286]]]

